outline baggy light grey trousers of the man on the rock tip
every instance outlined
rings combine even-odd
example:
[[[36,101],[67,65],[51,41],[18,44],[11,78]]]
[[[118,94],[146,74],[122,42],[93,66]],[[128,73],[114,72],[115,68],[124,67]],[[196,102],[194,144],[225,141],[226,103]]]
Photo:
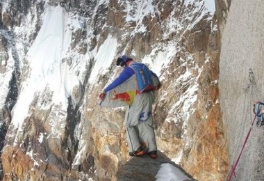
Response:
[[[148,152],[157,150],[154,127],[152,126],[152,94],[136,95],[133,104],[126,110],[126,138],[129,152],[146,145]]]

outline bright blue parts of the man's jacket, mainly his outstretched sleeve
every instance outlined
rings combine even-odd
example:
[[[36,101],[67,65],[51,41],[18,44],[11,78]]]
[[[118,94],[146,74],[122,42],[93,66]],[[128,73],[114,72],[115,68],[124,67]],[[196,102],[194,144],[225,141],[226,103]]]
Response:
[[[137,64],[141,64],[141,65],[144,65],[143,63],[137,63]],[[157,77],[157,75],[152,72],[151,72],[151,75]],[[126,66],[122,72],[119,74],[119,77],[117,77],[111,84],[109,84],[105,89],[104,89],[104,92],[107,93],[108,91],[112,90],[113,88],[121,85],[124,81],[128,80],[130,77],[133,76],[133,74],[135,74],[133,68],[129,67],[129,66]]]

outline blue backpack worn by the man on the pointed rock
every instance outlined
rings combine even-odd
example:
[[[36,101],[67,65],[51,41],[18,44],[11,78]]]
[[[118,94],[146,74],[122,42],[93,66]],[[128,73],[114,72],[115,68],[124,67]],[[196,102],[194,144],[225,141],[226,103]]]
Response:
[[[151,71],[143,63],[133,63],[129,65],[134,72],[135,77],[137,78],[137,94],[147,93],[149,91],[154,91],[154,82],[152,80]]]

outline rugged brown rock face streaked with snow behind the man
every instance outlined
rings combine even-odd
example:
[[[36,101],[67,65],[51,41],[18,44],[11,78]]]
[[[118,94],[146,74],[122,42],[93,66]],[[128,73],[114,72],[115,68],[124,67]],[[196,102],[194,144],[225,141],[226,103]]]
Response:
[[[196,0],[1,2],[3,180],[129,177],[139,158],[129,160],[124,108],[97,104],[121,54],[147,63],[163,84],[154,104],[160,159],[149,161],[149,178],[172,159],[197,180],[224,180],[225,2],[216,13]]]

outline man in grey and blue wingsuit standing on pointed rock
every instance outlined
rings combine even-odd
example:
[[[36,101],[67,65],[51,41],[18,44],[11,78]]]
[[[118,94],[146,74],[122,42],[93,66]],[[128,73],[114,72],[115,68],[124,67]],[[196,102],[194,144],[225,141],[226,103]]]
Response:
[[[145,64],[136,63],[129,56],[117,58],[116,65],[120,65],[123,70],[119,77],[100,93],[100,105],[106,107],[128,105],[125,121],[129,155],[142,156],[147,153],[156,159],[152,104],[154,91],[160,88],[160,81]],[[120,105],[116,103],[118,101],[126,104]]]

